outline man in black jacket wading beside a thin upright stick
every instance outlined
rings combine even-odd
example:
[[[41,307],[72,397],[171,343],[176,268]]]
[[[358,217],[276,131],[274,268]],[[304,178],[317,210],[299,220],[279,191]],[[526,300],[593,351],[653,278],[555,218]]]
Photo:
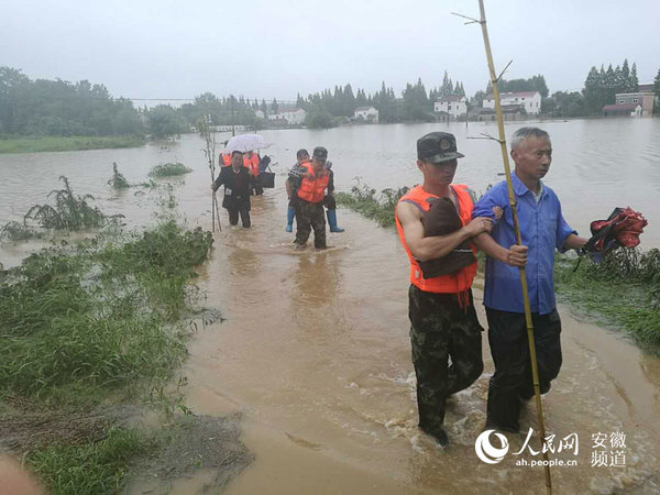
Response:
[[[234,151],[231,154],[231,165],[220,168],[218,178],[211,189],[218,190],[224,186],[222,208],[229,212],[229,223],[239,223],[239,216],[243,227],[248,229],[250,222],[250,170],[243,166],[243,153]]]

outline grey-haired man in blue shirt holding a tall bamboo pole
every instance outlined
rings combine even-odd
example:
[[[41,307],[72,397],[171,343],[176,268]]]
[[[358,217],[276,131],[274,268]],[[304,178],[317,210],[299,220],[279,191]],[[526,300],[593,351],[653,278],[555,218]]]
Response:
[[[552,145],[546,131],[522,128],[514,133],[512,174],[522,245],[516,245],[506,182],[491,188],[475,205],[472,217],[492,217],[504,210],[491,234],[475,238],[487,254],[484,306],[495,373],[488,387],[486,428],[517,432],[521,404],[534,396],[531,365],[519,266],[526,266],[527,287],[541,394],[561,367],[561,320],[554,301],[554,250],[580,249],[586,239],[571,229],[557,195],[546,186]]]

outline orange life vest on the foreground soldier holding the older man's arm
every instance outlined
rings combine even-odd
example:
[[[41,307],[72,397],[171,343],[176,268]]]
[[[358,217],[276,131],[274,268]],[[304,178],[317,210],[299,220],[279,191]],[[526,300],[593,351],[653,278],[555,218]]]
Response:
[[[470,223],[472,219],[472,209],[474,205],[472,204],[472,198],[470,197],[470,193],[468,193],[468,186],[464,185],[452,185],[454,194],[457,195],[458,204],[459,204],[459,217],[461,218],[461,222],[463,226]],[[407,201],[415,204],[422,211],[428,211],[430,208],[430,204],[428,201],[429,198],[437,198],[438,196],[428,194],[424,190],[421,186],[415,186],[410,189],[406,195],[399,199],[399,202]],[[404,249],[410,258],[410,284],[419,287],[421,290],[427,293],[441,293],[441,294],[451,294],[451,293],[464,293],[470,287],[472,287],[472,280],[476,275],[476,261],[468,266],[460,268],[458,272],[454,272],[449,275],[441,275],[439,277],[433,278],[424,278],[421,273],[421,268],[410,253],[410,250],[406,245],[406,239],[404,238],[404,229],[402,227],[402,222],[398,219],[398,216],[394,216],[396,220],[396,230],[398,231],[399,239],[402,240],[402,244],[404,244]],[[471,244],[470,248],[476,254],[476,249]]]

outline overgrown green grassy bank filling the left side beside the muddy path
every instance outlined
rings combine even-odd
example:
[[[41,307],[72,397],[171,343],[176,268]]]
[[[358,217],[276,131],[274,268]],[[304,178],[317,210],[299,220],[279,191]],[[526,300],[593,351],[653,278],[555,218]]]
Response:
[[[66,210],[69,224],[77,207]],[[155,437],[118,421],[118,408],[187,413],[167,383],[191,331],[189,282],[211,244],[209,232],[168,220],[0,272],[0,440],[51,493],[116,493],[131,461],[152,450]]]

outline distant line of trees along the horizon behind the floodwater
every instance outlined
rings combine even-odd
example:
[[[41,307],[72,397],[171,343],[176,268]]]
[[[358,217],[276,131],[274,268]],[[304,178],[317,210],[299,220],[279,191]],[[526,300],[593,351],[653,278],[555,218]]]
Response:
[[[551,97],[542,75],[529,79],[502,79],[501,92],[539,91],[541,111],[553,117],[584,117],[601,114],[604,105],[614,103],[617,92],[637,91],[637,66],[629,68],[612,64],[600,70],[592,67],[582,91],[557,91]],[[660,97],[660,70],[654,80]],[[481,107],[492,94],[491,82],[485,90],[470,98],[470,107]],[[351,84],[336,86],[302,98],[298,94],[296,107],[307,111],[306,124],[329,128],[348,121],[359,107],[374,107],[381,122],[435,121],[433,103],[446,96],[465,96],[463,84],[455,84],[444,72],[442,84],[427,91],[421,78],[406,84],[397,97],[383,81],[381,89],[366,94],[353,91]],[[293,105],[289,103],[289,105]],[[219,98],[205,92],[179,108],[160,105],[152,109],[134,108],[124,98],[112,98],[103,85],[88,80],[68,82],[62,79],[31,80],[19,69],[0,67],[0,134],[2,135],[143,135],[167,138],[188,132],[199,122],[209,120],[213,125],[242,124],[262,129],[270,114],[283,109],[277,99],[261,102],[244,97]],[[257,113],[261,112],[261,113]]]

